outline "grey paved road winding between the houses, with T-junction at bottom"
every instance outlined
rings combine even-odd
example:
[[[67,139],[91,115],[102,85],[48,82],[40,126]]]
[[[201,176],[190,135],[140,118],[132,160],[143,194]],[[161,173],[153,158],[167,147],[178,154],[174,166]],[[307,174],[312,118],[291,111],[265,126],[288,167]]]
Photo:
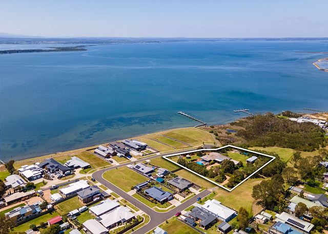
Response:
[[[187,151],[190,151],[190,150],[180,151],[180,152],[176,152],[176,153],[183,153],[183,152],[187,152]],[[172,154],[172,153],[155,155],[155,156],[148,157],[147,159],[153,159],[153,158],[162,157],[162,156],[170,155],[170,154]],[[129,201],[132,205],[135,205],[140,210],[144,211],[146,214],[148,214],[150,216],[150,222],[148,224],[142,226],[141,228],[137,229],[136,231],[134,231],[133,233],[135,233],[135,234],[147,233],[148,231],[152,230],[159,224],[161,224],[161,223],[165,222],[166,220],[170,219],[171,217],[173,217],[178,211],[184,210],[184,209],[188,208],[189,206],[191,206],[193,203],[195,203],[197,201],[198,197],[203,198],[203,197],[206,197],[209,194],[211,194],[211,192],[209,190],[203,190],[203,192],[199,193],[197,196],[192,197],[191,199],[187,200],[186,202],[183,202],[181,205],[179,205],[178,207],[175,207],[174,209],[172,209],[168,212],[157,212],[157,211],[151,209],[150,207],[148,207],[147,205],[145,205],[144,203],[140,202],[139,200],[135,199],[134,197],[128,195],[126,192],[124,192],[123,190],[121,190],[120,188],[116,187],[114,184],[110,183],[109,181],[107,181],[103,178],[103,174],[107,171],[110,171],[112,169],[119,168],[122,166],[126,166],[131,163],[141,162],[141,161],[145,161],[145,160],[146,159],[140,159],[140,160],[137,160],[134,162],[127,162],[127,163],[124,163],[121,165],[112,166],[112,167],[109,167],[106,169],[101,169],[100,171],[97,171],[92,174],[92,177],[94,179],[96,179],[98,182],[100,182],[104,186],[108,187],[114,193],[118,194],[120,197]]]

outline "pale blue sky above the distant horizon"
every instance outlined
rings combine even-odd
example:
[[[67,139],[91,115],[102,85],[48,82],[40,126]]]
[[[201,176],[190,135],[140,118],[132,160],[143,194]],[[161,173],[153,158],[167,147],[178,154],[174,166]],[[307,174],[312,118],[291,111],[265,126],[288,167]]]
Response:
[[[45,37],[328,37],[327,0],[0,0],[0,33]]]

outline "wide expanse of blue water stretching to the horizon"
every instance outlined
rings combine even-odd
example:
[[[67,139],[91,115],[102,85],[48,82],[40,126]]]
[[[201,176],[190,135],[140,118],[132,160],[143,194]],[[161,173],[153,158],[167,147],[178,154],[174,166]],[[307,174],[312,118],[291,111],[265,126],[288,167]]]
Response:
[[[297,53],[327,45],[190,41],[0,55],[1,158],[196,124],[178,111],[221,124],[245,116],[233,112],[241,108],[328,110],[328,73],[312,64],[324,56]]]

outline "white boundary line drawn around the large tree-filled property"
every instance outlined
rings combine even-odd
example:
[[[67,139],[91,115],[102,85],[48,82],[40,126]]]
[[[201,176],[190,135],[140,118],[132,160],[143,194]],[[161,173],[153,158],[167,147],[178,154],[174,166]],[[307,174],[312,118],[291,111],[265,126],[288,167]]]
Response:
[[[260,168],[258,168],[255,172],[253,172],[251,175],[249,175],[247,178],[245,178],[244,180],[242,180],[241,182],[239,182],[239,184],[237,184],[236,186],[234,186],[233,188],[229,189],[229,188],[226,188],[218,183],[216,183],[215,181],[213,180],[210,180],[209,178],[207,177],[204,177],[202,175],[199,175],[198,173],[195,173],[194,171],[192,171],[191,169],[185,167],[185,166],[182,166],[181,164],[167,158],[167,157],[172,157],[172,156],[177,156],[177,155],[181,155],[181,154],[189,154],[189,153],[194,153],[194,152],[199,152],[199,151],[217,151],[217,150],[221,150],[222,148],[227,148],[227,147],[232,147],[232,148],[237,148],[238,150],[242,150],[242,151],[247,151],[247,152],[251,152],[251,153],[254,153],[254,154],[258,154],[258,155],[262,155],[262,156],[266,156],[266,157],[269,157],[269,158],[272,158],[269,162],[265,163],[263,166],[261,166]],[[165,158],[166,160],[169,160],[170,162],[188,170],[189,172],[192,172],[194,174],[196,174],[197,176],[200,176],[201,178],[203,179],[206,179],[208,181],[210,181],[211,183],[213,184],[216,184],[217,186],[221,187],[221,188],[224,188],[226,190],[228,190],[229,192],[231,192],[232,190],[234,190],[236,187],[238,187],[240,184],[242,184],[243,182],[245,182],[246,180],[248,180],[249,178],[251,178],[254,174],[256,174],[257,172],[259,172],[264,166],[268,165],[270,162],[272,162],[273,160],[275,160],[276,157],[274,156],[271,156],[271,155],[266,155],[266,154],[262,154],[262,153],[259,153],[259,152],[256,152],[256,151],[251,151],[251,150],[246,150],[245,148],[240,148],[240,147],[237,147],[237,146],[234,146],[234,145],[226,145],[226,146],[222,146],[222,147],[219,147],[219,148],[209,148],[209,149],[206,149],[206,148],[202,148],[201,150],[194,150],[194,151],[188,151],[188,152],[183,152],[183,153],[177,153],[177,154],[171,154],[171,155],[166,155],[166,156],[163,156],[163,158]]]

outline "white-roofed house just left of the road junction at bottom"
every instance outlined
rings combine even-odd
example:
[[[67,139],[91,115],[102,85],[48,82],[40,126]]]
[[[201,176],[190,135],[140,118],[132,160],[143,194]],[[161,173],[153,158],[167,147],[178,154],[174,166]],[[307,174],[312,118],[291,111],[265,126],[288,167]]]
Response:
[[[120,206],[99,218],[101,219],[101,224],[107,229],[111,229],[119,224],[130,222],[132,219],[135,219],[135,216],[128,207]]]

